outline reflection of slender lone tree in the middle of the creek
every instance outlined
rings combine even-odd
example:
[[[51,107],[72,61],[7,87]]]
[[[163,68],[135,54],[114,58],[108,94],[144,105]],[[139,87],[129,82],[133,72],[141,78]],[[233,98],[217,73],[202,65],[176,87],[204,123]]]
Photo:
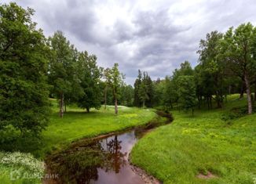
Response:
[[[121,143],[122,141],[119,141],[117,139],[117,135],[115,135],[114,139],[108,142],[106,139],[107,144],[107,158],[108,161],[104,163],[104,169],[105,171],[115,171],[115,173],[119,173],[120,168],[122,168],[126,164],[126,154],[122,153],[121,149]]]

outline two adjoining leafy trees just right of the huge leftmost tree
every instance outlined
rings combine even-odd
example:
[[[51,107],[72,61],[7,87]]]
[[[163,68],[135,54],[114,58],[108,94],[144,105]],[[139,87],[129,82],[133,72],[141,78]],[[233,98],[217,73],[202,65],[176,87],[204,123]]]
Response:
[[[97,66],[97,57],[78,52],[60,31],[49,38],[49,45],[49,84],[53,86],[53,96],[60,100],[60,116],[64,104],[78,103],[87,112],[100,108],[103,69]]]

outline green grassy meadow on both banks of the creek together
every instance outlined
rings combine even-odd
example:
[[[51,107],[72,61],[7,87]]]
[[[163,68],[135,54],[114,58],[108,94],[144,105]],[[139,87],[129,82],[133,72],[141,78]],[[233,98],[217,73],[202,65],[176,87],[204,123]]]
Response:
[[[126,106],[119,106],[118,115],[114,114],[113,106],[107,106],[107,110],[92,110],[89,114],[76,106],[68,106],[68,112],[61,119],[57,101],[51,99],[51,102],[53,111],[41,140],[32,144],[23,140],[16,143],[30,153],[0,152],[0,183],[40,183],[40,179],[11,181],[10,173],[13,177],[17,175],[13,171],[21,175],[42,173],[43,158],[54,150],[64,149],[78,139],[145,124],[155,117],[153,110]],[[196,110],[194,116],[171,110],[174,121],[140,139],[133,147],[132,163],[167,184],[254,184],[256,114],[227,119],[237,106],[246,106],[246,99],[229,96],[223,109],[203,108]],[[213,178],[199,179],[199,174],[209,172]]]

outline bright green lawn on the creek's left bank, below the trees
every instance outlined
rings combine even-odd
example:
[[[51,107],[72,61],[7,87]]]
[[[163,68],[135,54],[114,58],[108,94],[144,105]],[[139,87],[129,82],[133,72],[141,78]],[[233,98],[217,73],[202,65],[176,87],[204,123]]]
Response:
[[[153,110],[126,106],[119,106],[118,115],[114,114],[114,106],[108,106],[107,110],[91,110],[89,114],[75,106],[68,107],[67,111],[61,119],[58,116],[57,103],[53,101],[50,124],[42,132],[44,146],[35,155],[42,157],[72,141],[146,124],[155,117]]]

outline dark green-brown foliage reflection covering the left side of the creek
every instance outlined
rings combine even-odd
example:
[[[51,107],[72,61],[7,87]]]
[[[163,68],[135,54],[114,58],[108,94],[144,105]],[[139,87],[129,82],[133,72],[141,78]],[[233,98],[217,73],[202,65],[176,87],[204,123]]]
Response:
[[[97,180],[97,168],[104,162],[101,144],[60,153],[51,158],[49,169],[58,173],[58,183],[90,183]]]

